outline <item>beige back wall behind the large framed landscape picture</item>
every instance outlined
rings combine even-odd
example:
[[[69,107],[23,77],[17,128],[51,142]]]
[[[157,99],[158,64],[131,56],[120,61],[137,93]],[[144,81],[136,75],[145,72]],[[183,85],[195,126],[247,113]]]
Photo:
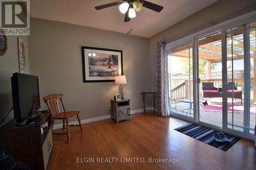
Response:
[[[30,74],[39,76],[41,103],[42,96],[63,93],[67,109],[80,110],[81,119],[110,114],[118,86],[82,82],[81,46],[92,46],[123,51],[124,97],[131,99],[131,110],[143,108],[139,93],[151,89],[149,39],[32,18],[28,41]]]

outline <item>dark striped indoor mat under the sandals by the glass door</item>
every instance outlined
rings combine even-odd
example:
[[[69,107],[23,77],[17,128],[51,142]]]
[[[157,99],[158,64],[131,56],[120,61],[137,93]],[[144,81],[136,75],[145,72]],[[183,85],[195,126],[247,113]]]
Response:
[[[212,147],[218,148],[222,151],[227,151],[229,148],[234,145],[240,138],[232,135],[225,134],[226,137],[229,139],[229,143],[218,143],[214,140],[214,134],[220,131],[216,131],[213,129],[209,129],[200,125],[196,124],[186,124],[182,127],[176,128],[176,131],[184,133],[190,137],[193,137],[197,140],[205,142]]]

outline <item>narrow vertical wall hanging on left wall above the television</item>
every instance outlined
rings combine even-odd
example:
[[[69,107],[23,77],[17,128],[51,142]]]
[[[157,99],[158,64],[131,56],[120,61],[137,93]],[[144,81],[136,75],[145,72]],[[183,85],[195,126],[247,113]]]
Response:
[[[25,43],[21,38],[18,40],[18,68],[19,73],[26,73],[26,61],[25,61]]]

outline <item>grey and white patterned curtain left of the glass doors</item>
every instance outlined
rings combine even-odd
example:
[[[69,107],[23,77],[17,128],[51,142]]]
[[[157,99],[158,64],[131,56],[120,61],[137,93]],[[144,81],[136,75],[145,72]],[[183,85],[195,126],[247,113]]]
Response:
[[[169,116],[166,109],[166,75],[165,75],[165,42],[157,43],[157,111],[159,114]]]

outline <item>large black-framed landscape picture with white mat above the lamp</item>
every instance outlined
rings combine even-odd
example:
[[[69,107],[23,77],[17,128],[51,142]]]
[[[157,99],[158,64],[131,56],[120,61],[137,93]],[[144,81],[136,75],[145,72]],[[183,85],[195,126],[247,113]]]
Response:
[[[122,51],[82,46],[83,82],[114,82],[123,75]]]

